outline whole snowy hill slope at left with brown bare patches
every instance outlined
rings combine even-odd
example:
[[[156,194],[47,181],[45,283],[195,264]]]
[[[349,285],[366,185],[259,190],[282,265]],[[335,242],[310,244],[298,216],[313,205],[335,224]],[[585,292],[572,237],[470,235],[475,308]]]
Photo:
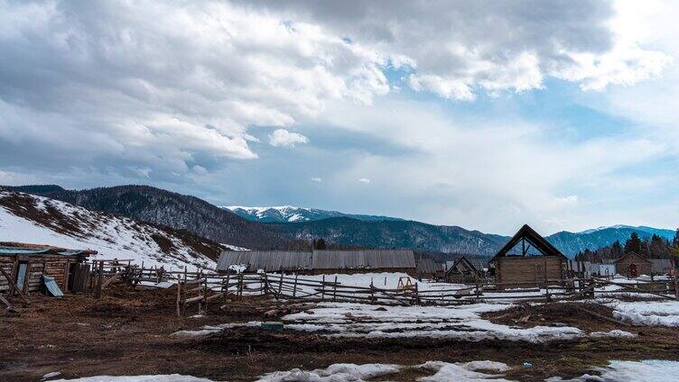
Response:
[[[19,192],[0,190],[0,241],[98,250],[165,268],[214,268],[222,247],[194,234]]]

